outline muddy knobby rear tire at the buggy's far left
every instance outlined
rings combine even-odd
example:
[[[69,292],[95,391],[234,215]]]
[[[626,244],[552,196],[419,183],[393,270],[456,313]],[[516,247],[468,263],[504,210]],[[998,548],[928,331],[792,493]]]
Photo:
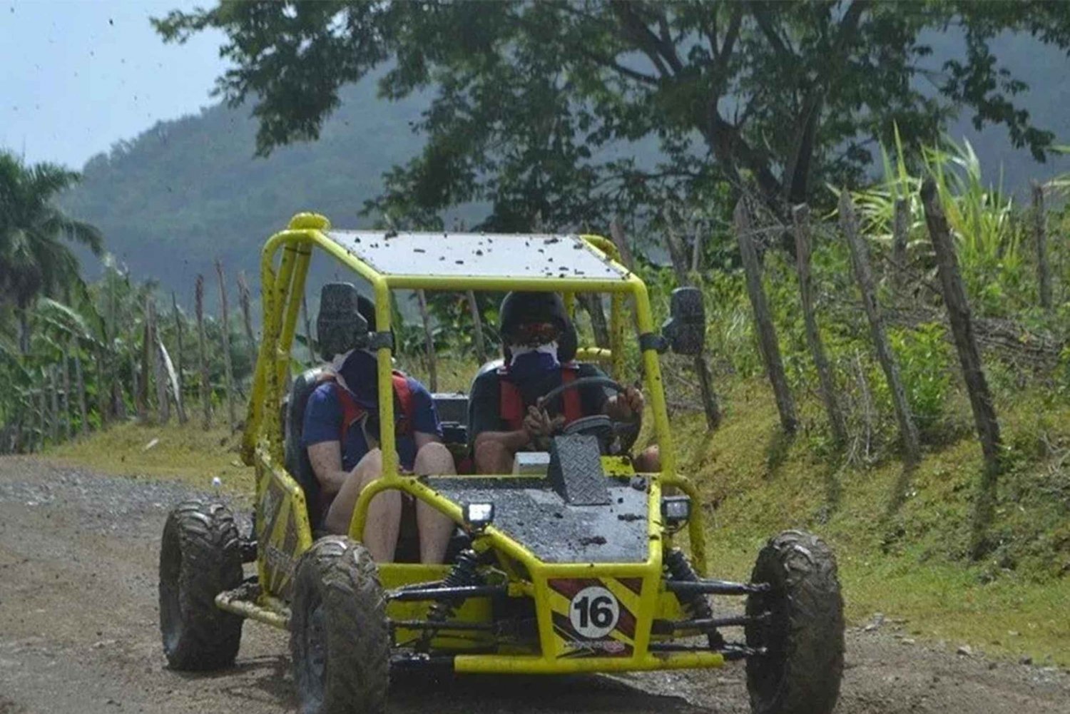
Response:
[[[159,548],[159,631],[171,669],[234,664],[243,618],[217,608],[215,596],[241,582],[241,541],[230,511],[202,501],[177,505]]]

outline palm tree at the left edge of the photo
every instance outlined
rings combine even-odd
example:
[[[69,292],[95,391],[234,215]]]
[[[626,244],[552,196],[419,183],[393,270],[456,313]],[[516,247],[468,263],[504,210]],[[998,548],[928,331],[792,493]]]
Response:
[[[62,239],[101,254],[101,231],[70,218],[52,202],[79,179],[62,166],[27,166],[18,156],[0,152],[0,303],[16,307],[24,353],[30,348],[27,313],[36,297],[81,285],[78,259]]]

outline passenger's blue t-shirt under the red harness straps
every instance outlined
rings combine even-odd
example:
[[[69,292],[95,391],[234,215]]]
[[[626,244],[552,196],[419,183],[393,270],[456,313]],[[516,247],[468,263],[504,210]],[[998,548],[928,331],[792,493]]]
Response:
[[[368,410],[367,424],[378,424],[379,399],[377,398],[378,381],[376,379],[376,358],[368,352],[355,350],[341,366],[341,376],[346,380],[358,405]],[[412,393],[412,429],[406,436],[395,432],[395,445],[401,467],[412,470],[416,460],[416,441],[413,431],[437,434],[442,436],[439,414],[434,409],[434,400],[430,392],[412,377],[409,391]],[[302,431],[302,442],[307,449],[324,441],[338,441],[341,436],[342,408],[338,400],[337,390],[342,389],[336,383],[320,384],[308,397],[305,407],[305,425]],[[395,422],[404,417],[400,404],[394,402]],[[374,439],[379,438],[379,429],[370,429]],[[368,442],[360,424],[351,424],[346,434],[346,443],[341,450],[341,466],[347,471],[356,466],[357,461],[368,453]]]

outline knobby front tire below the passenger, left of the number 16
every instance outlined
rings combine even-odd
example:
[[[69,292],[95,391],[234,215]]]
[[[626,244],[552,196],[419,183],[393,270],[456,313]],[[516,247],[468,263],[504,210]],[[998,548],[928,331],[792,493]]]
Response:
[[[312,544],[297,563],[290,654],[302,714],[382,714],[391,634],[379,571],[342,535]]]

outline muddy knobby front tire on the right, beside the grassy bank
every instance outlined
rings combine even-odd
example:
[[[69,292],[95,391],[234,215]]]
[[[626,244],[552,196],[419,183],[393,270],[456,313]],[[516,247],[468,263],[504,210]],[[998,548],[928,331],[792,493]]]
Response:
[[[747,614],[770,612],[747,625],[747,659],[754,714],[828,714],[843,675],[843,598],[836,558],[820,538],[785,531],[758,556],[752,582],[771,589],[747,598]]]

